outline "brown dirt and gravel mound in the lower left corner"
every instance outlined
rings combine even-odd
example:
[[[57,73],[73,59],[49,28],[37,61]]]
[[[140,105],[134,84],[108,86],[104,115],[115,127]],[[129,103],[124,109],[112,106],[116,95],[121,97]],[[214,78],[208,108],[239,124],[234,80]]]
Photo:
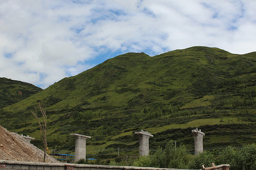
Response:
[[[27,142],[17,133],[11,133],[0,126],[1,160],[43,162],[43,154],[42,150]],[[57,163],[58,161],[47,155],[45,162]]]

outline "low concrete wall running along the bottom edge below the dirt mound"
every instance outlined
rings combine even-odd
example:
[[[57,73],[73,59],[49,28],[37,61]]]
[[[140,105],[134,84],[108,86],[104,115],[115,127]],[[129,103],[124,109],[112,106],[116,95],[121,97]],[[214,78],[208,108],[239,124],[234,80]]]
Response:
[[[181,170],[148,167],[83,165],[64,163],[38,163],[0,160],[0,170]]]

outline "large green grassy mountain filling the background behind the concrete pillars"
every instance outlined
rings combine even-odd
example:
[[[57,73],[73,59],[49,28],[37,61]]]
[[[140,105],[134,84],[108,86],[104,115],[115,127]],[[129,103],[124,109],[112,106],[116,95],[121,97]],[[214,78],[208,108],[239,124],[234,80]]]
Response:
[[[47,111],[50,147],[74,151],[70,133],[92,136],[92,157],[105,148],[138,148],[134,132],[141,129],[154,135],[151,149],[169,140],[192,149],[195,127],[205,133],[205,149],[242,146],[256,142],[256,52],[191,47],[154,57],[127,53],[3,108],[0,125],[39,140],[30,113],[36,102]]]

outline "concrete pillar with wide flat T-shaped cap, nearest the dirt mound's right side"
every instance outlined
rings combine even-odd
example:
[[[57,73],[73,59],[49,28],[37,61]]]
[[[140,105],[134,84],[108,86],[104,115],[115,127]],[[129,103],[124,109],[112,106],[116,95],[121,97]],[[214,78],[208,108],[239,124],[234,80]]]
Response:
[[[70,134],[71,136],[75,136],[75,162],[79,161],[79,159],[86,159],[86,139],[92,138],[85,135],[79,134]]]

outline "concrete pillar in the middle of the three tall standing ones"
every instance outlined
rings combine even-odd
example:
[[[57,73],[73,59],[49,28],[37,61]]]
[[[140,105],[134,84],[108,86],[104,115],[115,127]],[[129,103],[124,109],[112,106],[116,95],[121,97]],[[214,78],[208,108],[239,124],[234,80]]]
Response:
[[[149,137],[153,137],[153,135],[143,130],[141,130],[140,132],[135,132],[135,134],[139,135],[139,156],[148,155]]]

